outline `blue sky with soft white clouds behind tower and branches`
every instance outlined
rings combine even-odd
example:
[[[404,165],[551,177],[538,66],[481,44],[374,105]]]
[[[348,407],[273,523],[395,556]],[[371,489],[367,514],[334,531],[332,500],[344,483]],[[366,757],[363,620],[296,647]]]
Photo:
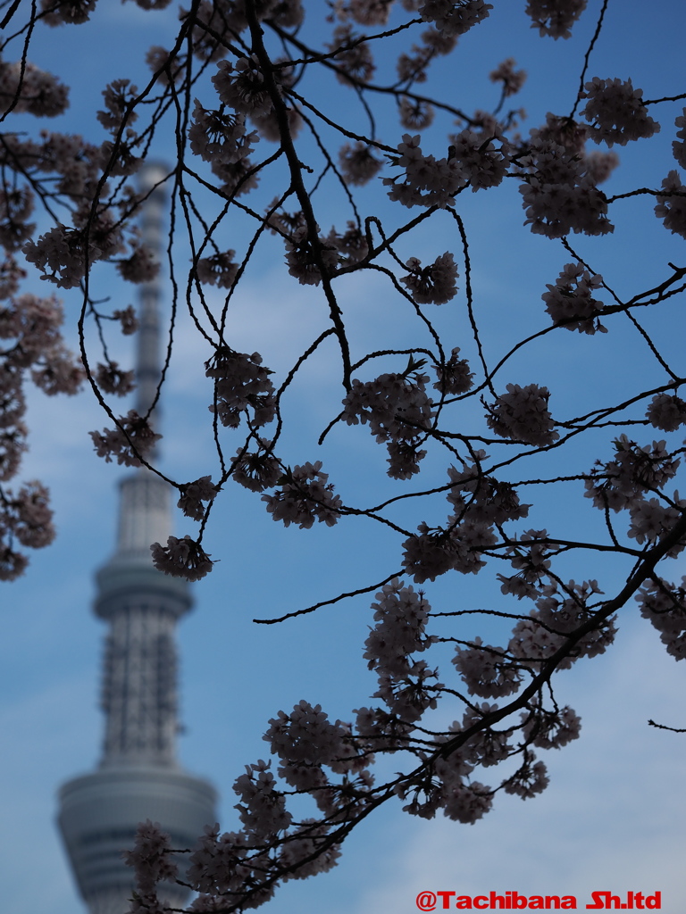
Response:
[[[488,72],[512,56],[529,73],[517,101],[529,114],[528,129],[540,124],[547,111],[571,108],[600,4],[589,0],[586,15],[566,43],[538,38],[523,7],[523,0],[517,0],[496,10],[497,16],[462,39],[453,58],[441,61],[430,85],[449,87],[455,103],[467,112],[492,107],[497,91],[488,82]],[[591,58],[589,77],[630,76],[647,98],[678,94],[683,90],[683,19],[678,0],[651,5],[649,14],[638,0],[610,0],[606,32]],[[144,13],[133,4],[102,0],[85,29],[37,29],[33,59],[73,85],[70,111],[39,126],[75,130],[101,142],[104,135],[92,112],[101,105],[105,83],[134,73],[142,84],[145,49],[168,42],[174,25],[171,8]],[[313,91],[322,103],[328,91],[334,92],[326,86]],[[359,114],[342,90],[336,91],[336,103],[350,105],[349,112],[338,110],[355,123]],[[656,107],[650,113],[662,124],[662,132],[652,141],[619,149],[622,167],[607,183],[608,193],[659,186],[674,167],[670,142],[681,108]],[[384,120],[381,113],[380,123],[383,138],[396,143],[401,132],[391,119]],[[445,154],[439,150],[445,148],[449,129],[446,122],[432,128],[426,149]],[[165,152],[160,142],[155,154]],[[263,197],[268,201],[271,196],[272,188],[264,187]],[[511,342],[546,324],[541,293],[569,260],[558,244],[532,237],[522,227],[519,197],[516,187],[508,186],[495,194],[460,198],[471,242],[477,318],[491,363]],[[366,212],[399,218],[381,189],[372,188],[365,201]],[[324,230],[334,221],[340,224],[342,207],[335,196],[322,213]],[[239,228],[228,221],[221,233],[228,247],[241,249]],[[668,260],[683,263],[683,241],[661,228],[646,198],[617,205],[613,236],[574,242],[622,295],[663,279]],[[425,262],[446,248],[457,251],[454,229],[439,217],[434,228],[418,234],[403,253]],[[104,284],[111,282],[108,277]],[[40,292],[45,285],[35,282]],[[389,345],[389,340],[390,345],[402,345],[413,334],[413,324],[399,314],[385,288],[376,277],[365,276],[350,278],[343,289],[348,327],[360,352],[363,345],[366,351]],[[118,282],[107,291],[121,304],[134,299]],[[78,296],[62,297],[68,314],[65,332],[75,348]],[[455,308],[445,306],[436,322],[450,345],[463,346],[471,356],[460,301],[455,300]],[[212,302],[218,304],[219,298]],[[258,349],[264,364],[283,376],[315,335],[313,328],[323,320],[320,308],[320,293],[286,275],[281,244],[268,239],[246,274],[231,318],[233,345],[248,353]],[[659,346],[679,367],[679,301],[645,316]],[[180,480],[205,473],[216,477],[207,421],[211,393],[202,367],[209,352],[187,330],[188,319],[182,317],[164,395],[164,467]],[[653,374],[659,377],[647,363],[636,332],[618,320],[604,336],[558,333],[544,340],[513,359],[500,382],[503,388],[509,381],[548,384],[560,415],[580,412],[575,406],[579,402],[612,402],[633,390],[637,366],[645,373],[646,386]],[[132,357],[130,341],[118,346],[120,361]],[[318,433],[339,409],[334,355],[333,348],[325,348],[310,360],[287,400],[292,431],[284,439],[284,458],[291,463],[323,460],[344,501],[369,503],[379,500],[379,493],[404,491],[403,484],[384,476],[385,453],[364,428],[339,426],[317,448]],[[62,781],[90,770],[99,754],[97,695],[104,632],[90,611],[92,574],[113,550],[115,484],[122,473],[92,452],[87,431],[107,422],[89,393],[49,400],[32,394],[29,400],[31,450],[22,478],[48,483],[59,536],[53,546],[32,556],[27,577],[3,585],[0,596],[0,732],[5,736],[0,809],[8,839],[0,874],[8,914],[75,914],[80,901],[53,824],[55,792]],[[587,470],[596,457],[607,459],[611,437],[610,432],[598,433],[589,445],[575,445],[561,458],[558,472],[568,472],[568,467]],[[649,437],[646,433],[646,440]],[[445,458],[430,457],[426,463],[428,477],[443,482]],[[529,526],[541,522],[570,537],[581,536],[586,529],[597,529],[600,515],[595,514],[598,517],[578,486],[570,485],[556,503],[544,499],[537,505]],[[443,515],[442,506],[431,518],[417,506],[407,509],[404,519],[416,526],[424,519],[440,522]],[[177,533],[191,529],[178,520]],[[400,565],[400,539],[381,535],[378,525],[355,518],[332,529],[284,529],[273,523],[259,496],[232,486],[213,512],[206,547],[220,563],[194,588],[196,610],[178,631],[187,727],[180,757],[189,770],[217,785],[220,821],[230,829],[236,821],[231,783],[243,765],[264,757],[262,734],[270,717],[306,698],[321,703],[329,717],[345,720],[353,708],[370,704],[376,688],[361,656],[371,622],[370,598],[341,602],[279,626],[255,625],[252,619],[281,615],[386,577]],[[683,558],[670,564],[665,574],[681,577]],[[621,562],[605,560],[567,570],[575,579],[597,577],[609,594],[626,573]],[[437,610],[503,602],[488,574],[446,576],[427,586],[427,597]],[[477,633],[475,628],[464,636]],[[445,675],[447,660],[445,655]],[[659,889],[663,909],[676,912],[682,901],[679,874],[686,821],[683,737],[648,728],[647,720],[684,725],[682,665],[665,654],[657,632],[638,618],[633,605],[625,607],[611,651],[558,676],[560,699],[581,715],[583,731],[581,739],[562,751],[541,753],[551,776],[546,792],[528,802],[498,794],[494,811],[474,826],[443,818],[418,821],[402,813],[398,803],[359,828],[330,874],[288,884],[263,910],[410,914],[423,889],[477,894],[493,888],[528,895],[573,894],[581,908],[593,890]],[[447,707],[440,713],[447,722],[458,716]]]

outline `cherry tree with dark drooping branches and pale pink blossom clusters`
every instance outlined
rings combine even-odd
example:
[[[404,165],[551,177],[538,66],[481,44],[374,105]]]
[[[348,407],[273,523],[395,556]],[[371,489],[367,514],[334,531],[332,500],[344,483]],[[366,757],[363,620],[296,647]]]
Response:
[[[151,15],[170,5],[135,2]],[[285,880],[335,866],[347,835],[386,802],[400,798],[411,815],[442,813],[473,824],[498,792],[527,799],[544,790],[539,750],[560,749],[580,731],[573,708],[558,700],[554,675],[604,654],[623,608],[638,604],[668,654],[686,656],[686,578],[675,580],[669,563],[686,546],[686,501],[674,489],[684,450],[684,378],[650,333],[661,308],[686,290],[686,267],[667,263],[650,288],[631,271],[627,294],[618,291],[626,277],[616,282],[596,262],[629,197],[640,198],[646,223],[686,238],[679,170],[686,168],[686,92],[670,86],[664,97],[646,99],[630,78],[605,72],[595,46],[609,0],[589,9],[586,0],[522,0],[541,41],[563,42],[582,16],[595,16],[578,62],[578,90],[526,131],[525,112],[513,107],[526,74],[514,58],[490,73],[498,96],[490,111],[457,107],[468,99],[447,87],[423,89],[433,85],[432,68],[459,53],[458,42],[497,19],[495,4],[193,0],[178,11],[173,44],[150,48],[144,86],[123,76],[102,88],[91,139],[30,133],[26,118],[21,130],[12,129],[16,115],[50,118],[68,105],[68,88],[32,62],[35,30],[79,27],[95,5],[4,7],[0,577],[20,575],[27,565],[22,547],[43,547],[53,536],[45,486],[6,487],[26,448],[28,379],[48,395],[90,385],[107,423],[91,431],[96,452],[163,475],[155,465],[153,410],[173,370],[182,308],[211,352],[205,374],[214,454],[197,479],[167,479],[189,532],[151,544],[155,566],[188,580],[211,573],[212,507],[236,484],[286,527],[365,517],[397,537],[396,567],[354,591],[372,600],[362,648],[378,675],[370,707],[353,710],[348,722],[306,701],[275,712],[264,734],[271,760],[252,761],[235,781],[235,830],[209,824],[190,853],[184,878],[199,893],[190,910],[228,914],[258,907]],[[335,101],[341,92],[349,96],[345,105]],[[645,186],[607,195],[604,183],[622,173],[615,147],[647,144],[660,130],[673,137],[675,166],[653,175],[646,153]],[[159,148],[175,150],[175,160],[142,189],[136,175]],[[560,265],[557,275],[541,275],[538,328],[511,339],[493,362],[473,290],[466,197],[506,193],[513,182],[522,231],[549,239]],[[100,277],[115,269],[140,283],[160,269],[135,220],[162,185],[170,228],[161,269],[175,291],[169,345],[150,409],[123,414],[112,398],[128,394],[134,378],[113,360],[108,342],[113,330],[133,333],[135,316],[131,308],[108,310]],[[332,212],[338,225],[327,231]],[[43,228],[29,221],[34,213]],[[234,248],[224,241],[229,221]],[[433,259],[416,256],[420,237],[423,248],[431,239]],[[231,333],[241,282],[256,252],[274,240],[284,273],[314,287],[322,315],[283,376],[260,352],[235,348]],[[57,296],[22,291],[29,274],[78,298],[79,358],[61,335]],[[348,332],[346,283],[353,276],[381,278],[403,314],[413,315],[407,345],[369,351]],[[468,338],[445,334],[446,310],[465,319]],[[543,337],[573,358],[586,338],[611,336],[619,322],[640,336],[644,359],[632,367],[621,399],[610,402],[599,389],[592,408],[561,415],[533,358],[525,383],[509,377],[515,359]],[[99,348],[88,342],[89,326]],[[301,462],[291,465],[281,451],[285,404],[307,360],[324,347],[335,353],[338,399],[327,404],[330,421],[319,441],[303,443]],[[317,445],[346,425],[367,426],[388,454],[394,488],[380,504],[348,504],[317,459]],[[434,459],[444,467],[440,480],[423,475]],[[556,493],[570,485],[588,517],[587,537],[570,535],[555,510]],[[398,522],[401,504],[413,526]],[[527,523],[530,511],[547,513],[546,526]],[[585,570],[590,557],[605,554],[623,569],[621,585],[611,580],[609,592]],[[570,567],[578,569],[575,579]],[[448,574],[495,575],[509,611],[432,608],[424,585]],[[486,640],[464,636],[461,622],[477,613]],[[494,619],[501,640],[487,643],[495,641]],[[452,657],[439,672],[441,645]],[[447,728],[435,723],[438,707],[455,718]],[[375,759],[386,757],[396,773],[375,780]],[[141,826],[128,856],[139,885],[132,912],[165,910],[156,887],[177,876],[172,850],[155,824]]]

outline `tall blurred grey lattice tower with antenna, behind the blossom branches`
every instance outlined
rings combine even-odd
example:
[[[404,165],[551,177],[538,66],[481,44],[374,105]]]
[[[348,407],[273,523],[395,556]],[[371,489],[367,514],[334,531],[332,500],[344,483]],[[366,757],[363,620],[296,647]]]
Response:
[[[162,253],[166,192],[161,165],[141,170],[145,246]],[[159,186],[155,186],[159,185]],[[157,278],[141,288],[136,356],[136,411],[145,415],[161,373]],[[155,409],[154,428],[159,425]],[[136,826],[158,822],[173,847],[192,847],[206,824],[216,821],[214,788],[176,759],[177,620],[192,600],[185,580],[157,571],[150,544],[166,543],[172,529],[172,489],[145,470],[120,484],[119,533],[114,555],[96,576],[95,614],[109,626],[102,670],[105,733],[96,771],[68,781],[59,791],[59,830],[74,877],[90,914],[123,914],[134,890],[123,848]],[[186,858],[178,861],[182,867]],[[183,874],[181,874],[183,875]],[[168,884],[160,892],[176,907],[188,892]]]

